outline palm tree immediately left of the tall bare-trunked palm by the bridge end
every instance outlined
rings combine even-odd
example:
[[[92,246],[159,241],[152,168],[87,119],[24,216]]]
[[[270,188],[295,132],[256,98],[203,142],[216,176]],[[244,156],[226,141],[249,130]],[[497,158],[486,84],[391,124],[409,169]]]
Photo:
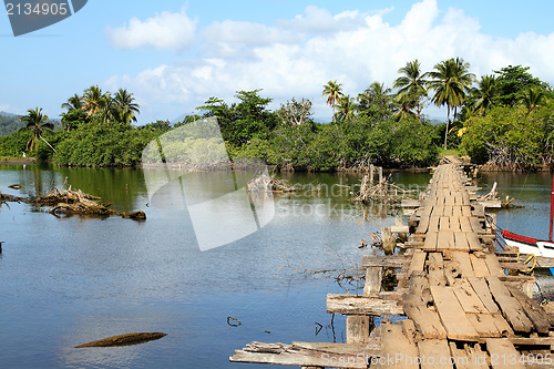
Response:
[[[394,89],[399,89],[399,100],[406,102],[407,99],[411,99],[416,102],[416,104],[413,105],[416,106],[418,120],[421,123],[423,99],[428,94],[428,81],[425,80],[425,74],[421,73],[421,63],[416,59],[411,62],[406,63],[406,66],[399,69],[398,73],[402,75],[394,81],[392,86]]]

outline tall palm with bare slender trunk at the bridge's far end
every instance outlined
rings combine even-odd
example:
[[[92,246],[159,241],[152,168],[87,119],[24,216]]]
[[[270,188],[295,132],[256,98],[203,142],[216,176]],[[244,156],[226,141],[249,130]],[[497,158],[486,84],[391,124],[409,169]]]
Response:
[[[450,112],[453,110],[454,116],[456,107],[462,106],[468,90],[475,79],[469,72],[470,64],[463,59],[449,59],[434,65],[434,71],[425,73],[430,76],[429,86],[434,90],[431,101],[438,106],[447,105],[447,132],[444,134],[444,150],[447,150],[447,139],[450,125]]]

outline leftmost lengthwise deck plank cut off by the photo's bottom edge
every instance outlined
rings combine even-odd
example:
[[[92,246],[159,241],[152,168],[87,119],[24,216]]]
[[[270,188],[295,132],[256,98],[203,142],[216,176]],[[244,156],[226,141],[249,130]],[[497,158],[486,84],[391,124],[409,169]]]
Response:
[[[381,357],[394,358],[393,362],[390,362],[392,360],[386,360],[386,363],[381,368],[398,368],[398,365],[401,363],[402,368],[419,369],[418,363],[413,362],[413,360],[411,360],[412,362],[408,360],[409,358],[419,357],[418,348],[404,336],[402,327],[387,324],[382,325],[381,329]],[[404,358],[406,362],[401,358]]]

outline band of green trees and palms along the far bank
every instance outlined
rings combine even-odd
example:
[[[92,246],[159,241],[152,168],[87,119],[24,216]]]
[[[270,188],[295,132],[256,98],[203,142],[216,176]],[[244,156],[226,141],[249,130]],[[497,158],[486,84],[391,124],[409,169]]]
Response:
[[[452,58],[430,72],[413,60],[398,73],[394,91],[373,81],[358,95],[345,94],[341,83],[329,81],[322,86],[334,112],[329,123],[314,121],[310,100],[291,99],[270,111],[273,99],[254,90],[237,91],[230,104],[212,96],[196,107],[199,114],[174,127],[167,121],[137,127],[133,122],[140,106],[132,93],[120,89],[112,94],[93,85],[62,104],[63,130],[52,131],[40,107],[21,119],[0,116],[2,132],[11,132],[0,136],[0,155],[31,151],[58,165],[136,165],[156,137],[215,116],[232,158],[257,157],[283,171],[423,166],[435,163],[439,153],[469,154],[476,163],[505,170],[552,166],[554,93],[529,68],[509,65],[478,80],[468,62]],[[447,107],[444,123],[425,119],[422,110],[429,103]],[[220,140],[165,148],[183,157],[198,145],[208,153]]]

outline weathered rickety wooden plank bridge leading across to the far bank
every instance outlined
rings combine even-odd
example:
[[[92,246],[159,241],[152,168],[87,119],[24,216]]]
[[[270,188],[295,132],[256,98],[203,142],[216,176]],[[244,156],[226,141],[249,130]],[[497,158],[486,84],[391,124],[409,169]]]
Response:
[[[484,209],[455,164],[440,165],[410,219],[403,255],[363,256],[363,295],[327,296],[347,342],[252,342],[230,361],[302,368],[554,368],[554,315],[527,297],[533,276],[494,253]],[[381,291],[383,268],[400,268]],[[506,275],[505,270],[512,270]],[[514,273],[515,271],[515,273]],[[370,331],[375,316],[404,316]]]

